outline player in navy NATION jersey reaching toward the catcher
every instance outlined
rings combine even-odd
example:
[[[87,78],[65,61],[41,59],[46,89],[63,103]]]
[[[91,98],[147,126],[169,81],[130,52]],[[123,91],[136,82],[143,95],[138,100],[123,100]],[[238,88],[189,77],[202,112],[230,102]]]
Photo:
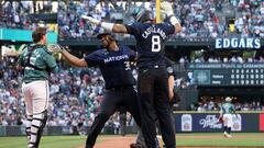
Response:
[[[109,117],[121,106],[132,114],[136,124],[141,126],[140,107],[135,79],[132,75],[130,61],[135,58],[135,53],[127,46],[118,46],[114,37],[109,33],[99,34],[105,48],[98,49],[79,59],[66,49],[55,46],[62,52],[68,62],[78,67],[98,66],[106,82],[106,92],[100,105],[100,112],[92,123],[86,140],[86,148],[92,148],[98,135]]]

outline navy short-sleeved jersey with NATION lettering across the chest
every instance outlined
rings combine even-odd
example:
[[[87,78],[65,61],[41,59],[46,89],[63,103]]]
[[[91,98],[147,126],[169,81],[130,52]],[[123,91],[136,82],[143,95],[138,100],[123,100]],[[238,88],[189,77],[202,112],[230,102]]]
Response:
[[[130,61],[135,53],[129,47],[119,50],[99,49],[85,57],[89,67],[98,66],[106,81],[106,89],[135,84]]]

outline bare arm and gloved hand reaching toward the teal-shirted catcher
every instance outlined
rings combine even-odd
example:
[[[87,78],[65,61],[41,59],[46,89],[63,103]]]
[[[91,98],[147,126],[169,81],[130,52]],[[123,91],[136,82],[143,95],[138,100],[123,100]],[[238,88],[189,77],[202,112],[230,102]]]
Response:
[[[66,60],[73,66],[88,67],[88,64],[86,62],[85,59],[80,59],[80,58],[69,54],[64,47],[62,47],[57,44],[48,45],[47,49],[53,53],[62,53],[62,55],[66,58]]]

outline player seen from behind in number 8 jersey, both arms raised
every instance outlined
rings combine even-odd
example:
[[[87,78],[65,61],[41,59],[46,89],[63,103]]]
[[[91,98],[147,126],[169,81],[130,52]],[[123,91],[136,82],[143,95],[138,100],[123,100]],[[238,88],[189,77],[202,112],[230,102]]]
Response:
[[[182,26],[174,15],[170,3],[163,2],[161,8],[167,14],[167,18],[169,18],[169,23],[154,24],[148,11],[140,12],[136,16],[138,22],[130,25],[100,22],[91,16],[84,15],[82,19],[100,25],[107,31],[127,33],[135,37],[139,53],[138,89],[142,109],[142,133],[146,146],[147,148],[156,147],[155,118],[157,116],[166,147],[175,148],[176,140],[173,130],[174,124],[170,119],[164,42],[168,35],[179,32]],[[154,94],[157,94],[160,98],[155,98]]]

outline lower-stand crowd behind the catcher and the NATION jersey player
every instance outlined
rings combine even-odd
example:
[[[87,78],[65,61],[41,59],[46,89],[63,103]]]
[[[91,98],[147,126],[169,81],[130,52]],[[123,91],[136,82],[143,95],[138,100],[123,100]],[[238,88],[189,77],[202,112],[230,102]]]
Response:
[[[24,125],[25,104],[21,93],[22,73],[15,69],[16,58],[0,60],[0,125]],[[105,81],[97,68],[69,68],[58,61],[59,72],[51,76],[50,126],[90,126],[99,111]],[[4,70],[3,70],[4,69]],[[127,114],[127,125],[133,125]],[[116,113],[106,124],[120,128]]]

